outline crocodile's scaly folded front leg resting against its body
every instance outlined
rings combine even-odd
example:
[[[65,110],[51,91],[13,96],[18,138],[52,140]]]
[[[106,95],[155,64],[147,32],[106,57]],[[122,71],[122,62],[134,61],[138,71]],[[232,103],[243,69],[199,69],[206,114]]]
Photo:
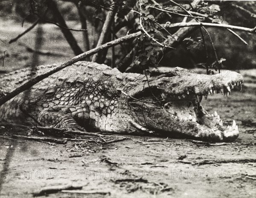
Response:
[[[86,125],[88,120],[89,109],[81,106],[53,106],[38,115],[38,122],[42,125],[67,130],[84,130],[81,125]]]

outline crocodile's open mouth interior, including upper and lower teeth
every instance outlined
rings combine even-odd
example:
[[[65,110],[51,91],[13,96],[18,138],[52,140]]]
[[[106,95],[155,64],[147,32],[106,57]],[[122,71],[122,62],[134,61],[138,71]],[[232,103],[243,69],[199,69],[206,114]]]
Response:
[[[241,86],[241,83],[242,81],[232,83],[226,89],[221,90],[211,87],[207,94],[204,95],[204,98],[207,99],[207,96],[215,93],[222,93],[224,96],[229,96],[231,89],[233,89],[234,86]],[[176,121],[183,122],[184,124],[193,122],[199,130],[204,131],[204,133],[218,134],[220,140],[223,141],[235,140],[239,136],[236,121],[233,121],[232,126],[224,126],[216,111],[214,113],[208,113],[200,104],[202,97],[201,95],[198,96],[195,93],[189,92],[186,95],[175,96],[171,99],[169,97],[169,102],[164,105],[164,109],[172,116],[172,119]]]

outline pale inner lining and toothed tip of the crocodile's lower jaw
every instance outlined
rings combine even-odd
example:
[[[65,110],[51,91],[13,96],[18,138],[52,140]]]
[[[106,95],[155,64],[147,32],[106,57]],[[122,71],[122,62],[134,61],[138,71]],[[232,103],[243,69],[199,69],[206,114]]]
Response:
[[[195,123],[196,128],[194,130],[198,133],[198,135],[195,133],[195,136],[202,140],[233,141],[238,137],[239,131],[235,121],[232,126],[223,127],[218,113],[207,113],[196,99],[193,102],[186,100],[168,102],[165,109],[173,119],[185,122],[188,125],[191,122]],[[193,129],[188,128],[187,130],[192,131]]]

